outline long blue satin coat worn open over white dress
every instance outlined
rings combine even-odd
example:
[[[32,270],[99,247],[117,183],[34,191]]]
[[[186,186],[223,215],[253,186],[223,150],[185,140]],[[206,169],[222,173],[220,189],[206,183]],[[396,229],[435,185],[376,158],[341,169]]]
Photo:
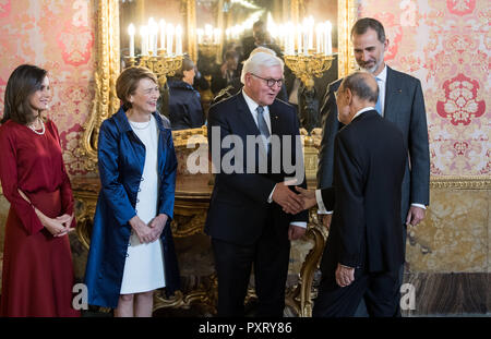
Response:
[[[177,159],[172,134],[161,118],[153,113],[158,134],[158,214],[169,216],[161,232],[166,293],[179,289],[179,269],[173,249],[170,220],[173,216]],[[136,205],[136,195],[145,164],[145,146],[132,131],[122,108],[100,126],[98,167],[101,189],[94,216],[85,283],[88,303],[117,307],[127,249]]]

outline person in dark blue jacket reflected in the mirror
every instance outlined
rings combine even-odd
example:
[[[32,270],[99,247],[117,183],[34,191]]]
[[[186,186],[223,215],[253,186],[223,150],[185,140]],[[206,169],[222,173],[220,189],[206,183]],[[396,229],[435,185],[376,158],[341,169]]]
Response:
[[[168,81],[169,120],[172,130],[197,129],[205,124],[200,93],[193,88],[194,63],[189,57],[182,68]]]

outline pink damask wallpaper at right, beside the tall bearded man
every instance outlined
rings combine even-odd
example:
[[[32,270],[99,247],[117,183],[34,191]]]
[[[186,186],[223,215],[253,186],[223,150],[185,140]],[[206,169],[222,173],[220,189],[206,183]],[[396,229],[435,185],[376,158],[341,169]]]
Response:
[[[432,175],[490,175],[489,0],[362,0],[380,20],[387,64],[418,77],[429,124]]]

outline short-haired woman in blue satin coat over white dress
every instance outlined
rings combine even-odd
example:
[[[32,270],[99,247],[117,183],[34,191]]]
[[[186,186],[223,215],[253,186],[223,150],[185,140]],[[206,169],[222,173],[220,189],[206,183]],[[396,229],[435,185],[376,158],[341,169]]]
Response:
[[[172,134],[156,112],[157,78],[129,68],[116,82],[119,111],[100,125],[100,193],[85,283],[88,303],[115,316],[152,316],[154,291],[179,289],[170,221],[177,159]]]

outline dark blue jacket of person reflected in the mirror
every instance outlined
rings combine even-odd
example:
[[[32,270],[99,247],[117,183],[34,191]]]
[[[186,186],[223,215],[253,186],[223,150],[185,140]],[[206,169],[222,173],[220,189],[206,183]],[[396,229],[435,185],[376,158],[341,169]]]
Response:
[[[205,123],[200,93],[183,81],[169,81],[169,119],[172,130],[199,129]]]

